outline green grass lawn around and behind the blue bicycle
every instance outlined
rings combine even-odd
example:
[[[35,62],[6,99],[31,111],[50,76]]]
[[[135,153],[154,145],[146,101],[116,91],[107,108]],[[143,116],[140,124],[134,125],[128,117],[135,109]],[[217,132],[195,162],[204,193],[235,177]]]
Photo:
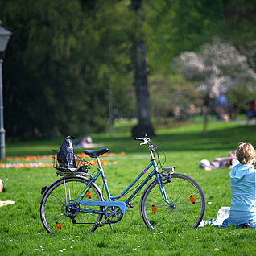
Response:
[[[113,195],[122,192],[133,177],[148,163],[147,147],[141,147],[118,124],[115,138],[107,134],[93,135],[93,142],[104,143],[109,152],[125,151],[126,155],[105,158],[118,165],[105,167],[109,188]],[[211,122],[209,134],[202,134],[203,126],[196,123],[170,130],[157,130],[153,142],[167,155],[166,166],[175,166],[175,172],[190,175],[204,191],[206,212],[204,220],[216,219],[221,206],[230,204],[229,170],[203,171],[198,168],[200,159],[227,156],[241,141],[256,146],[256,126],[233,122]],[[51,155],[60,148],[63,138],[49,141],[7,143],[6,156]],[[76,149],[76,152],[81,152]],[[95,168],[95,167],[94,167]],[[89,233],[85,237],[70,234],[50,235],[39,217],[41,187],[57,179],[52,167],[0,169],[4,190],[0,200],[14,200],[0,208],[1,255],[224,255],[254,254],[254,230],[216,229],[206,226],[184,232],[155,233],[147,229],[139,214],[139,197],[134,209],[127,209],[122,221]],[[101,185],[101,184],[100,184]],[[102,188],[102,186],[100,186]],[[211,204],[209,204],[211,203]],[[65,250],[64,250],[65,249]]]

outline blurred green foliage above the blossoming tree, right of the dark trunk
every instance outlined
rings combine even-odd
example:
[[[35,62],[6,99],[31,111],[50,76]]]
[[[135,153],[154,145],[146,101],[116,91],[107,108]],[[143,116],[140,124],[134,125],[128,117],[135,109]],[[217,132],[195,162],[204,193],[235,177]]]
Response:
[[[256,68],[256,2],[253,0],[159,0],[148,2],[147,55],[155,70],[184,51],[198,51],[217,36],[237,47]]]

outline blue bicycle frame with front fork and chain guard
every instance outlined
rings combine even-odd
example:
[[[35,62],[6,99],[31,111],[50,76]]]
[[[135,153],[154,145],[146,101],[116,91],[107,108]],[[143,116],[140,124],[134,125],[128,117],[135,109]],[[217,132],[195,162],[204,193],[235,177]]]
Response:
[[[161,178],[160,178],[160,174],[159,174],[159,169],[157,167],[157,163],[155,161],[155,157],[154,157],[154,154],[153,154],[153,149],[154,149],[154,146],[151,146],[149,147],[149,151],[150,151],[150,154],[151,154],[151,163],[138,175],[137,178],[134,179],[134,181],[132,181],[132,183],[121,193],[119,194],[118,196],[111,196],[110,192],[109,192],[109,187],[108,187],[108,184],[107,184],[107,180],[105,179],[105,174],[104,174],[104,170],[103,170],[103,167],[101,165],[101,160],[100,160],[100,157],[97,156],[96,159],[97,159],[97,164],[98,164],[98,171],[97,171],[97,174],[94,175],[94,177],[89,180],[89,183],[85,186],[85,188],[83,189],[83,191],[80,193],[79,196],[76,197],[76,200],[74,200],[72,202],[72,209],[76,209],[76,207],[74,206],[76,204],[76,202],[78,201],[79,204],[83,204],[85,207],[86,205],[94,205],[94,206],[102,206],[102,207],[119,207],[122,211],[122,213],[126,213],[126,206],[129,204],[130,200],[132,200],[134,198],[135,195],[137,195],[137,193],[147,184],[147,182],[149,180],[151,180],[151,178],[155,175],[156,176],[156,179],[159,183],[159,189],[161,191],[161,194],[163,196],[163,200],[169,204],[170,206],[173,206],[173,204],[171,204],[168,200],[167,200],[167,196],[166,196],[166,193],[165,193],[165,190],[163,188],[163,184],[162,184],[162,181],[161,181]],[[154,170],[151,171],[151,173],[147,176],[146,180],[144,180],[142,182],[142,184],[140,184],[138,186],[138,188],[132,193],[132,195],[125,201],[113,201],[113,200],[118,200],[120,198],[122,198],[122,196],[124,196],[126,194],[126,192],[138,181],[140,180],[140,178],[142,177],[142,175],[146,174],[147,171],[151,168],[151,167],[154,167]],[[104,184],[104,187],[105,187],[105,191],[106,191],[106,194],[108,196],[108,200],[106,201],[84,201],[83,198],[85,197],[85,194],[86,194],[86,190],[89,188],[90,184],[92,184],[93,182],[95,182],[99,176],[101,175],[101,178],[103,180],[103,184]],[[68,201],[67,199],[67,195],[66,195],[66,200]],[[81,200],[80,200],[81,199]],[[91,209],[80,209],[81,212],[84,212],[84,213],[105,213],[105,211],[100,211],[100,210],[91,210]]]

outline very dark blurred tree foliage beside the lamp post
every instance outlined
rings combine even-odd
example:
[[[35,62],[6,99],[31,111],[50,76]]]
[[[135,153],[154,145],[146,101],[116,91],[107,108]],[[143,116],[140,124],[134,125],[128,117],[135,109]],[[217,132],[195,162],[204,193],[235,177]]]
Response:
[[[6,52],[7,137],[102,130],[98,116],[104,117],[107,98],[90,54],[97,43],[89,43],[97,42],[97,33],[79,2],[9,1],[1,7],[13,31]]]

